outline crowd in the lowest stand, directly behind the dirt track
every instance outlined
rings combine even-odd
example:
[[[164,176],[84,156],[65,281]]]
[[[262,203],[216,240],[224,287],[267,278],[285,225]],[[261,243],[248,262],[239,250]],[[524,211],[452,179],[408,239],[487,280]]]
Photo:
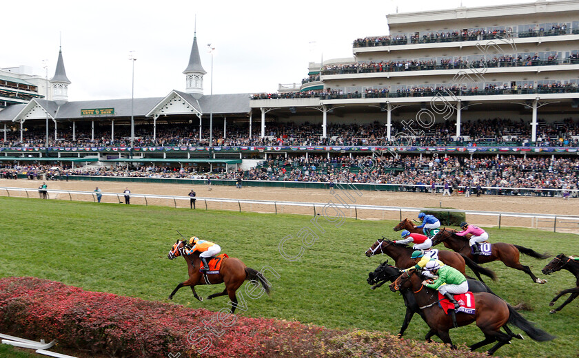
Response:
[[[496,187],[486,189],[491,194],[529,194],[522,188],[579,189],[579,159],[549,156],[275,156],[249,170],[200,173],[196,167],[114,165],[112,167],[48,167],[38,165],[0,168],[3,178],[14,173],[30,179],[62,179],[70,176],[123,176],[141,178],[191,178],[236,180],[274,180],[292,182],[349,182],[401,185],[398,190],[430,191],[431,186],[442,188],[446,183],[457,190],[465,187]],[[507,188],[507,189],[498,189]],[[555,191],[539,195],[553,196]]]

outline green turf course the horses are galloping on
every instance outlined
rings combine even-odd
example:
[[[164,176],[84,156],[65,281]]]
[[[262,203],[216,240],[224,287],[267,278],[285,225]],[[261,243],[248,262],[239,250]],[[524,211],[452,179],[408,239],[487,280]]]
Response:
[[[240,315],[295,319],[329,328],[363,328],[398,333],[405,308],[403,300],[387,286],[372,291],[366,283],[369,271],[387,257],[365,257],[364,252],[381,235],[398,237],[394,222],[346,220],[340,228],[319,218],[325,230],[320,233],[309,220],[312,216],[237,213],[142,207],[137,205],[95,204],[23,198],[0,198],[4,208],[0,222],[0,277],[34,276],[79,286],[88,291],[103,291],[165,301],[179,282],[187,278],[182,258],[167,260],[177,238],[185,236],[218,243],[222,251],[240,258],[247,266],[260,270],[271,266],[279,278],[269,275],[272,296],[249,299],[248,309]],[[300,260],[290,262],[278,251],[286,235],[287,255],[302,248],[298,232],[309,227],[318,240],[303,247]],[[491,242],[512,242],[553,255],[577,254],[577,236],[534,229],[489,229]],[[305,238],[307,242],[307,238]],[[549,260],[522,255],[523,264],[539,277]],[[493,290],[511,304],[525,302],[533,310],[522,314],[558,339],[537,343],[526,337],[498,351],[517,357],[576,357],[579,341],[575,328],[579,301],[562,312],[549,315],[548,302],[564,288],[574,286],[568,271],[546,277],[545,285],[533,284],[525,273],[507,268],[502,262],[488,264],[498,275],[489,282]],[[242,287],[243,288],[243,287]],[[207,297],[223,290],[198,286],[197,293]],[[243,290],[240,290],[243,291]],[[239,292],[239,291],[238,291]],[[562,303],[562,299],[558,303]],[[192,308],[219,310],[228,299],[197,302],[190,289],[182,288],[173,301]],[[518,330],[516,330],[518,331]],[[422,340],[426,324],[415,316],[405,337]],[[482,333],[471,325],[451,331],[456,343],[471,344]],[[48,339],[49,337],[47,337]],[[556,353],[554,353],[556,352]]]

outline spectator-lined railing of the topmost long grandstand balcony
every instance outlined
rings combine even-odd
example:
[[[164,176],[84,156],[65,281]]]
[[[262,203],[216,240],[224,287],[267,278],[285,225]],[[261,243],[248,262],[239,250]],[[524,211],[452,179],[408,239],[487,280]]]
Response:
[[[451,33],[450,36],[447,34]],[[445,31],[443,34],[438,34],[436,36],[436,31],[429,32],[429,34],[423,34],[422,36],[416,36],[415,33],[407,34],[396,34],[394,36],[382,36],[382,37],[369,37],[367,39],[355,40],[352,44],[353,48],[374,48],[380,46],[396,46],[396,45],[408,45],[408,44],[418,44],[418,43],[446,43],[446,42],[463,42],[463,41],[484,41],[484,40],[494,40],[494,39],[509,39],[518,38],[524,39],[529,37],[542,37],[542,36],[562,36],[567,34],[579,34],[579,28],[566,28],[557,30],[528,30],[521,32],[491,32],[487,34],[463,34],[456,30]],[[438,31],[440,32],[440,31]],[[430,33],[433,36],[430,36]]]

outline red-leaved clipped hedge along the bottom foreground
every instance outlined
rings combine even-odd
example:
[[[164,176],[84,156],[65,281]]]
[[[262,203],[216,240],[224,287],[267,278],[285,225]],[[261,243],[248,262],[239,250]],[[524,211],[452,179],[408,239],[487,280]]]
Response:
[[[386,333],[227,315],[34,277],[0,279],[0,331],[111,357],[486,357]]]

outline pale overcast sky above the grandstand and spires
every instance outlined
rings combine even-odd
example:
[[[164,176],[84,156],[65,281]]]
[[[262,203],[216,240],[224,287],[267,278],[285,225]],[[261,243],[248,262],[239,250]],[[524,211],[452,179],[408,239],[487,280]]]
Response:
[[[185,90],[197,41],[210,94],[276,92],[279,83],[301,83],[309,62],[352,56],[352,41],[388,34],[386,14],[502,0],[450,1],[3,1],[4,41],[0,67],[26,65],[54,76],[59,43],[69,100],[130,98],[134,50],[134,96],[163,97]],[[506,3],[524,3],[507,0]]]

